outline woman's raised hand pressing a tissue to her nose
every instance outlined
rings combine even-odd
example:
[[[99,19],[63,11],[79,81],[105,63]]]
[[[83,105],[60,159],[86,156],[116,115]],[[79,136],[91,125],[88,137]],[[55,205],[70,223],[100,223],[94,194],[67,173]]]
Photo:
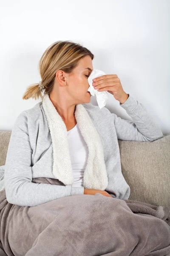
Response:
[[[97,89],[99,92],[107,90],[108,93],[111,93],[116,100],[123,104],[129,95],[125,93],[122,88],[122,84],[117,75],[103,75],[93,79],[94,89]]]

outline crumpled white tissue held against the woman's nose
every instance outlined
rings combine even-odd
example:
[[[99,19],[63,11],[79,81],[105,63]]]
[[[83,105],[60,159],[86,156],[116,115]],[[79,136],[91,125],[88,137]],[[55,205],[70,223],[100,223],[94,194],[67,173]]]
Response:
[[[97,89],[94,89],[94,86],[92,83],[94,78],[103,76],[103,75],[106,75],[103,71],[94,69],[91,72],[90,76],[88,77],[88,83],[90,85],[90,87],[88,88],[88,92],[90,92],[92,96],[96,95],[96,100],[99,105],[99,108],[105,107],[106,102],[108,100],[108,92],[107,91],[100,92]]]

